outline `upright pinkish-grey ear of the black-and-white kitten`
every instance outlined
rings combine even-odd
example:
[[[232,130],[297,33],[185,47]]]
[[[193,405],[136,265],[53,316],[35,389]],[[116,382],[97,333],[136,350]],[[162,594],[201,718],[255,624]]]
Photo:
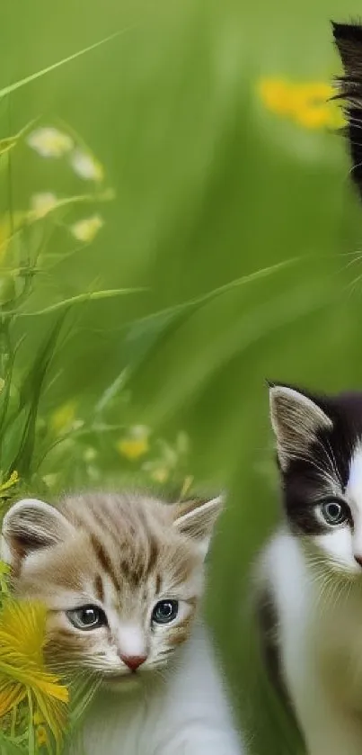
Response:
[[[331,429],[333,423],[318,404],[294,388],[269,385],[269,401],[278,459],[285,472],[290,460],[305,458],[318,432]]]

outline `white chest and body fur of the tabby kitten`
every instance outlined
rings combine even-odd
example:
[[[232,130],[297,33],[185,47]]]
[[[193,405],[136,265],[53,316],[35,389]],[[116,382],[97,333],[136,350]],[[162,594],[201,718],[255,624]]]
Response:
[[[98,693],[72,755],[242,755],[202,625],[163,675]]]

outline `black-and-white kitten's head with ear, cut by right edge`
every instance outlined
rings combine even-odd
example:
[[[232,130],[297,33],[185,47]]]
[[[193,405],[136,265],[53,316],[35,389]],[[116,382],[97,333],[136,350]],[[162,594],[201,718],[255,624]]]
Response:
[[[332,568],[362,577],[362,393],[270,387],[287,522]]]

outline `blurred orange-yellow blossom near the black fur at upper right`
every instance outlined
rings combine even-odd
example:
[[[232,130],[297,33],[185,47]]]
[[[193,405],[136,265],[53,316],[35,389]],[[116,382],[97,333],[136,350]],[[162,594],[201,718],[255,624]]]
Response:
[[[283,79],[263,79],[259,83],[262,103],[269,111],[285,116],[305,129],[339,128],[343,116],[331,101],[334,90],[325,82],[292,83]]]

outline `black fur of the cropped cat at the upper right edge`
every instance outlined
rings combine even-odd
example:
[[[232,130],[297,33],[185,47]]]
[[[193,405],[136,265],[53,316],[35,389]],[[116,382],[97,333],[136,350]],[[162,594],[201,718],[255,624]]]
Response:
[[[345,131],[352,158],[351,175],[362,197],[362,25],[332,23],[332,31],[344,68],[344,76],[337,80],[337,96],[345,102]]]

